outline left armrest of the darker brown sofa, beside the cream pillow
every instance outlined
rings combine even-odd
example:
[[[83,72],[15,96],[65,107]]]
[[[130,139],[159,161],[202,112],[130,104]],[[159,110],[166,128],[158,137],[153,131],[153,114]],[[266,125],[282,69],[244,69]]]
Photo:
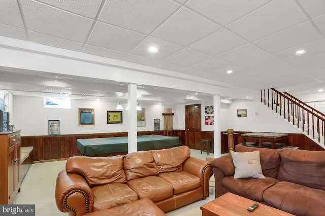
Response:
[[[222,180],[225,176],[235,173],[235,166],[231,155],[222,156],[211,161],[212,172],[215,182],[215,198],[223,195]]]

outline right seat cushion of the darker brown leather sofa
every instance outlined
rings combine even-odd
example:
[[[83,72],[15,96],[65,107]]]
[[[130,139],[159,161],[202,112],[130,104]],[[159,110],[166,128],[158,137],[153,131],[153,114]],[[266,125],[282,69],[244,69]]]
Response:
[[[295,215],[319,216],[325,212],[325,191],[291,182],[279,182],[265,190],[268,204]]]

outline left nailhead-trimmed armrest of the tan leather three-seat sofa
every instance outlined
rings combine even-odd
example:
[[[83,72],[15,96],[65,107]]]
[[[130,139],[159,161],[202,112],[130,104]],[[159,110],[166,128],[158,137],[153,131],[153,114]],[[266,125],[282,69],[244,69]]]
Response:
[[[56,206],[70,215],[84,215],[93,211],[93,194],[84,177],[77,173],[59,172],[55,185]]]

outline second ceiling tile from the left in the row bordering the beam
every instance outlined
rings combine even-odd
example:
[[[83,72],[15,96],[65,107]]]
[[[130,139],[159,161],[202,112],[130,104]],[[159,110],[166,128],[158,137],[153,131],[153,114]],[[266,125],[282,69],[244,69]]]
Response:
[[[30,41],[35,43],[45,44],[52,47],[64,48],[64,49],[75,50],[75,51],[81,51],[83,45],[82,43],[69,41],[66,39],[61,39],[50,35],[34,32],[34,31],[29,31],[28,37]]]

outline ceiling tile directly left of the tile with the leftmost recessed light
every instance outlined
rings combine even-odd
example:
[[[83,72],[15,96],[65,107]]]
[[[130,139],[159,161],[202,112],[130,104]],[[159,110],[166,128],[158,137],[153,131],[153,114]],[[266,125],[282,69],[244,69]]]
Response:
[[[135,31],[103,22],[96,22],[90,34],[88,44],[120,52],[129,52],[145,38],[146,35]]]

